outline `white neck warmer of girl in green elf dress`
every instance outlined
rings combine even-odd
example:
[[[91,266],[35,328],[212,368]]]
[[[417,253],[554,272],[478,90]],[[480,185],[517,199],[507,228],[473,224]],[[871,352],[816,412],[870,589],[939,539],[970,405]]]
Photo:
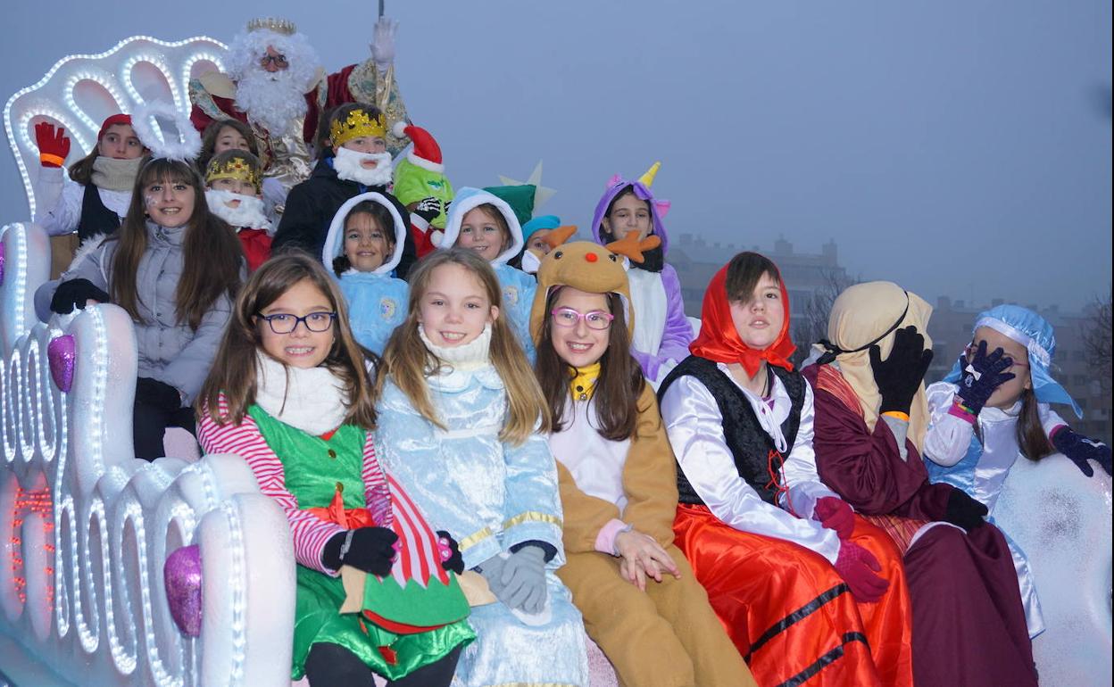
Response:
[[[255,402],[280,422],[320,436],[348,415],[344,384],[329,367],[293,367],[261,351],[255,371]]]

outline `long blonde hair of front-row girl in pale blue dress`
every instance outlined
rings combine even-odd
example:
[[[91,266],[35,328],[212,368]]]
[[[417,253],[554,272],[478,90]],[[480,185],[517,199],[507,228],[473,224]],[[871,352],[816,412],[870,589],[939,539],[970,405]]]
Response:
[[[502,310],[499,279],[491,266],[467,248],[449,248],[437,251],[418,263],[410,272],[410,300],[407,304],[407,318],[395,327],[391,338],[383,350],[384,371],[390,374],[395,385],[410,399],[411,405],[426,420],[444,429],[444,423],[437,414],[437,409],[429,398],[429,385],[426,377],[439,372],[446,363],[434,356],[418,334],[418,315],[421,300],[429,289],[433,271],[442,265],[460,265],[480,281],[491,305],[499,307],[499,316],[491,323],[491,347],[489,356],[496,372],[507,389],[507,419],[499,439],[511,444],[524,443],[535,432],[549,432],[549,413],[546,412],[545,398],[538,386],[534,371],[526,362],[526,354],[510,325],[507,324],[508,313]],[[382,389],[385,374],[380,374],[379,386]],[[540,425],[539,425],[540,423]]]

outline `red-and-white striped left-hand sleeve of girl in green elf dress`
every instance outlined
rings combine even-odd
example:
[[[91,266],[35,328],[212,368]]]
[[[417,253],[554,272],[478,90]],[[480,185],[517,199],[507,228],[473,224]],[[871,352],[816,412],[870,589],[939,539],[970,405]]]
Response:
[[[222,413],[227,410],[224,396],[221,396],[219,409]],[[286,489],[282,461],[267,445],[251,415],[244,415],[240,424],[222,425],[204,412],[197,426],[197,438],[206,453],[234,453],[247,461],[255,473],[255,481],[260,483],[260,491],[274,499],[286,514],[297,562],[336,577],[335,570],[321,562],[321,553],[325,542],[333,534],[343,532],[344,528],[299,508],[297,499]]]

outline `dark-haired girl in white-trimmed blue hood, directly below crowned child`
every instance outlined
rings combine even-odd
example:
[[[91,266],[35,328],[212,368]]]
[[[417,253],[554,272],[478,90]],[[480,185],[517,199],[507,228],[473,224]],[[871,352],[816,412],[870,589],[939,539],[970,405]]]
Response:
[[[405,317],[409,288],[393,276],[402,261],[405,232],[402,216],[387,196],[363,193],[336,210],[321,253],[348,301],[352,333],[377,354]]]

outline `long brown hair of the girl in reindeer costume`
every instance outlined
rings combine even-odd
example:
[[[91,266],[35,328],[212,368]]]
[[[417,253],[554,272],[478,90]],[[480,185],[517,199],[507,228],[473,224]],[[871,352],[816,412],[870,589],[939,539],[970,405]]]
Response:
[[[534,364],[555,432],[565,429],[565,406],[570,394],[568,383],[575,374],[573,366],[557,355],[553,345],[553,317],[549,313],[553,312],[559,293],[560,287],[554,288],[546,298],[538,359]],[[613,293],[606,296],[607,307],[615,318],[612,320],[607,350],[599,359],[599,379],[596,380],[596,390],[593,392],[596,419],[599,422],[599,426],[595,429],[605,439],[623,441],[634,435],[638,423],[638,398],[642,396],[646,379],[642,375],[638,362],[631,355],[631,335],[627,333],[623,298]]]

